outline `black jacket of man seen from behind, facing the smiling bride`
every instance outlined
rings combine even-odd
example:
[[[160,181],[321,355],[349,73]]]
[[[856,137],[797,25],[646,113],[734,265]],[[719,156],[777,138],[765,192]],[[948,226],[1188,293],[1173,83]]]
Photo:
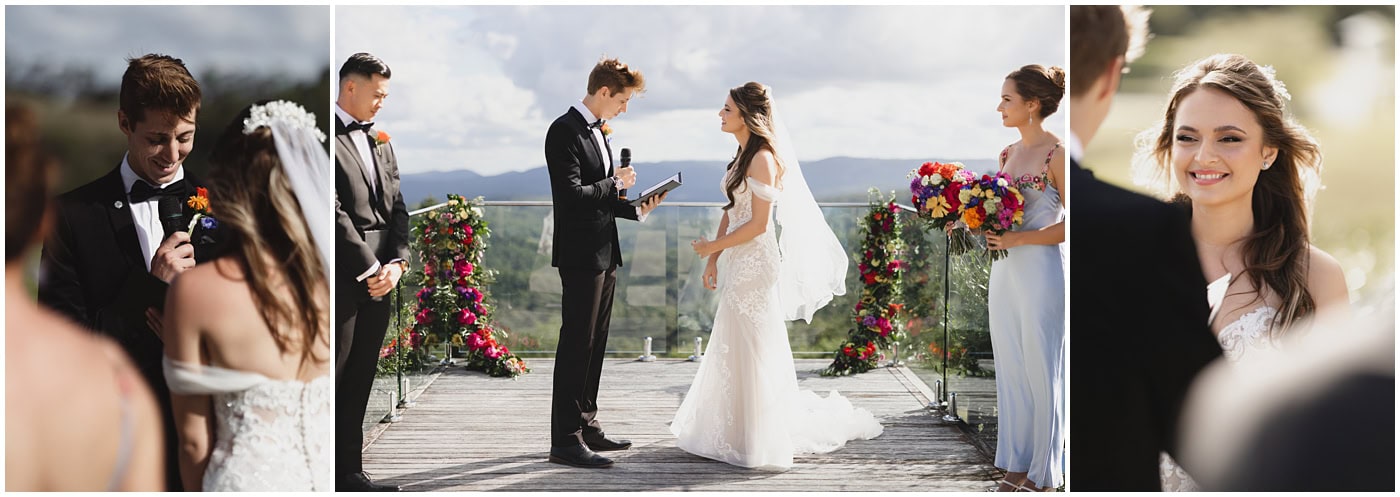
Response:
[[[1190,220],[1071,162],[1071,490],[1161,491],[1187,388],[1221,356]],[[1183,465],[1187,473],[1189,465]]]

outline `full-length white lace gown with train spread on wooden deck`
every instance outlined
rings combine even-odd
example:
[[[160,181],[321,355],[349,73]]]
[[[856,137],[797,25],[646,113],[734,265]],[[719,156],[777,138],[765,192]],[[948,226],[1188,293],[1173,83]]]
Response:
[[[745,179],[728,231],[753,218],[753,196],[781,190]],[[763,213],[771,216],[771,213]],[[883,427],[837,392],[798,391],[784,312],[778,305],[778,244],[764,234],[720,253],[714,329],[700,371],[671,433],[686,452],[743,468],[788,469],[794,454],[830,452]]]

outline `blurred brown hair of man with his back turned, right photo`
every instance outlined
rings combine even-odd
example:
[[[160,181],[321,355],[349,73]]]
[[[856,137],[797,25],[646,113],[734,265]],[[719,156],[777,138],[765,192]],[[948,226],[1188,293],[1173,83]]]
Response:
[[[1113,60],[1137,60],[1147,45],[1147,20],[1152,11],[1140,6],[1070,6],[1070,95],[1084,95]]]

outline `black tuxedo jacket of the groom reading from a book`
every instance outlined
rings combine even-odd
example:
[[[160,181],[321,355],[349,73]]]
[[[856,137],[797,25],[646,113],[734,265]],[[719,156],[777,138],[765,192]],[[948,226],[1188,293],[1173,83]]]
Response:
[[[622,266],[616,218],[637,220],[637,207],[617,199],[608,158],[594,143],[588,122],[574,108],[554,119],[545,134],[545,164],[554,199],[554,267]],[[612,155],[606,140],[602,148]]]

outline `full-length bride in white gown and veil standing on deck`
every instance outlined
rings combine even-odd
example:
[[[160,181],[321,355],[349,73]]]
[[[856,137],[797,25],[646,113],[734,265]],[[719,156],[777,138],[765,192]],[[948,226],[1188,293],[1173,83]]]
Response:
[[[841,448],[883,427],[840,393],[798,391],[785,321],[805,319],[846,293],[850,263],[802,178],[788,140],[776,139],[767,87],[729,90],[720,129],[739,151],[724,179],[715,239],[692,242],[707,258],[706,288],[720,308],[704,361],[671,423],[686,452],[743,468],[787,469],[794,454]],[[778,239],[771,230],[776,204]]]

